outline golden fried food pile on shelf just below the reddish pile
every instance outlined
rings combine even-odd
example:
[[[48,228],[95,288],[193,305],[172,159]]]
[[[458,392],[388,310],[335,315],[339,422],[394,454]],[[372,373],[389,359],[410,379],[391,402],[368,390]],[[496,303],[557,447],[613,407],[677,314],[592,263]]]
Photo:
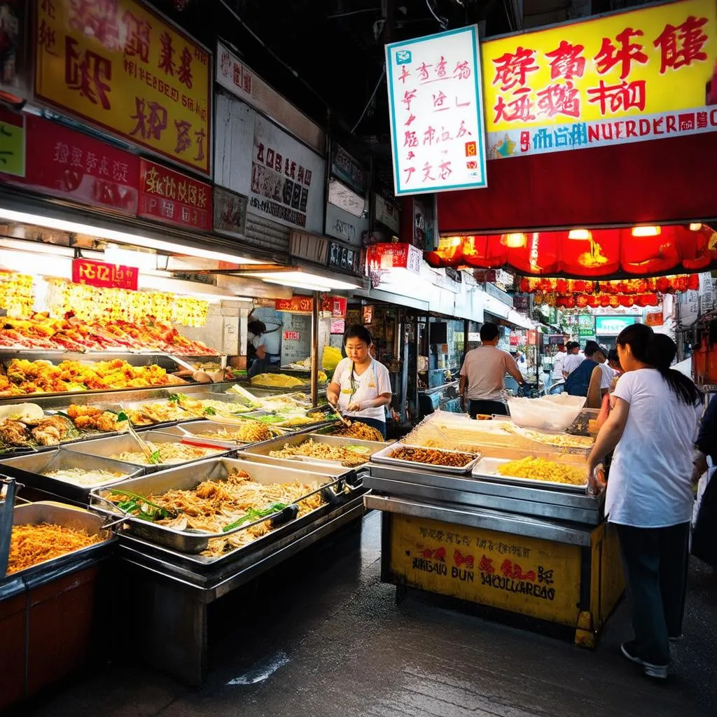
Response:
[[[121,359],[95,361],[89,366],[80,361],[62,361],[54,366],[49,361],[14,359],[4,373],[0,369],[0,396],[143,389],[178,383],[184,381],[168,375],[161,366],[131,366]]]

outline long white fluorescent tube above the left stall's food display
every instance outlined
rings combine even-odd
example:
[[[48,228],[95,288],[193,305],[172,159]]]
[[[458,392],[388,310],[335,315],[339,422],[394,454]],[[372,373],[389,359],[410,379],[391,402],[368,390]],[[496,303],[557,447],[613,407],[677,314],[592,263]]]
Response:
[[[164,242],[161,239],[143,237],[140,234],[129,232],[118,232],[115,229],[105,227],[93,227],[91,224],[80,224],[79,222],[68,222],[65,219],[54,219],[54,217],[42,217],[40,214],[27,214],[27,212],[15,212],[12,209],[0,207],[0,219],[7,219],[9,222],[21,222],[22,224],[37,224],[47,229],[57,229],[60,232],[74,232],[75,234],[87,234],[98,239],[108,239],[110,242],[121,244],[134,244],[137,247],[154,249],[158,251],[184,254],[199,259],[214,259],[220,262],[232,262],[234,264],[260,264],[261,262],[247,257],[239,257],[227,254],[227,252],[215,252],[212,250],[200,249],[198,247]]]

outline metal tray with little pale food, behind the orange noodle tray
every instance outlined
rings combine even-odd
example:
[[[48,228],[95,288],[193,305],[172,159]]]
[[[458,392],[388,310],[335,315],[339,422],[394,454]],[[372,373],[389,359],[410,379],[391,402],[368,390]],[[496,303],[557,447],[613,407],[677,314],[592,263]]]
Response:
[[[50,470],[63,470],[65,468],[88,468],[92,470],[121,471],[125,478],[118,478],[112,483],[120,480],[136,478],[144,473],[142,467],[129,465],[128,463],[103,458],[94,455],[84,455],[80,452],[60,448],[52,452],[34,453],[14,458],[0,460],[0,473],[15,478],[19,483],[24,483],[29,488],[42,490],[51,493],[58,498],[71,500],[72,503],[87,505],[90,502],[90,487],[75,485],[67,480],[58,480],[42,475]],[[105,485],[110,485],[105,483]]]

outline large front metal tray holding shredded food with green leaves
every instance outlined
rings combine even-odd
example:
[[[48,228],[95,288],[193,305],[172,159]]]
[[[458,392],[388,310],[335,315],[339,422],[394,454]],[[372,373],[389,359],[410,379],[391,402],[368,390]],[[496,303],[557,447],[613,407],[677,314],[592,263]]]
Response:
[[[166,493],[168,490],[192,490],[205,480],[224,480],[229,472],[234,470],[246,471],[252,480],[258,483],[317,483],[318,488],[311,490],[301,498],[295,501],[300,502],[308,498],[314,493],[318,493],[332,486],[341,483],[341,479],[327,477],[321,473],[314,473],[310,470],[286,470],[284,467],[264,465],[245,460],[237,460],[232,458],[212,458],[196,462],[191,466],[181,466],[178,468],[170,468],[159,473],[144,475],[139,478],[125,480],[117,483],[111,488],[97,488],[91,491],[93,509],[111,516],[126,515],[120,511],[116,505],[108,500],[110,490],[128,490],[138,495],[156,495]],[[295,505],[294,503],[294,505]],[[179,531],[167,526],[157,525],[149,521],[143,521],[141,518],[127,516],[125,520],[125,529],[133,535],[151,543],[178,551],[180,553],[197,554],[206,550],[210,538],[229,536],[239,530],[245,530],[257,523],[265,523],[267,520],[280,516],[277,513],[274,516],[266,516],[257,521],[246,523],[244,526],[234,528],[226,533],[203,533],[201,531]]]

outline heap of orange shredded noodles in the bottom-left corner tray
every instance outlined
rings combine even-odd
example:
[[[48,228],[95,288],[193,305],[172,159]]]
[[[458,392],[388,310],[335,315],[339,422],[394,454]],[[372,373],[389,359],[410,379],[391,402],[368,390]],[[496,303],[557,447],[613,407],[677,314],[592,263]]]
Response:
[[[50,523],[40,523],[37,526],[13,526],[7,574],[87,548],[102,540],[103,538],[98,535],[90,536],[85,531]]]

